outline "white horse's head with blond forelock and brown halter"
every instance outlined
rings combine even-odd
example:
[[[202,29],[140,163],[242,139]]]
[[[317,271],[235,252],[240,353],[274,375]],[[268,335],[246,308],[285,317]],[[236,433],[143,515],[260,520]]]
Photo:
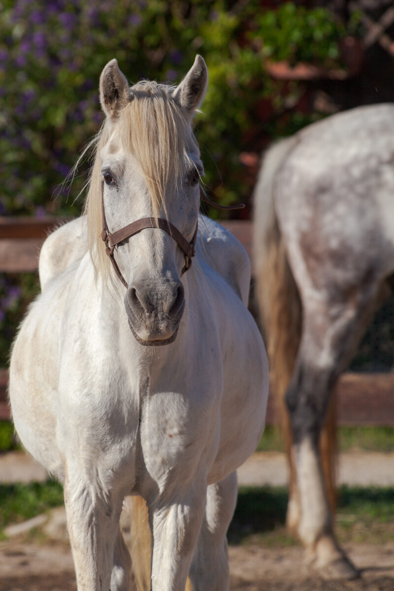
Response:
[[[112,247],[126,285],[129,325],[145,345],[171,342],[185,306],[181,275],[190,261],[181,238],[193,246],[203,172],[191,119],[203,100],[207,79],[200,56],[175,88],[155,82],[130,88],[116,60],[100,77],[106,123],[92,183],[96,174],[102,186],[107,246]],[[89,207],[88,202],[88,214]],[[97,203],[95,209],[97,218]],[[151,219],[151,225],[142,219]],[[116,232],[138,220],[144,229],[134,227],[135,233],[119,240],[122,235]],[[170,222],[165,231],[153,227],[158,222],[165,225],[165,220]],[[174,238],[173,226],[181,238]],[[116,236],[116,245],[110,242],[111,235]]]

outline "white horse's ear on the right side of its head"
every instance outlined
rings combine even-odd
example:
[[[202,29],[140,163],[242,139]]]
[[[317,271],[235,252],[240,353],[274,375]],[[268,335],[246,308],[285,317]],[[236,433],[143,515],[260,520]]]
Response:
[[[193,66],[190,68],[178,88],[174,92],[174,98],[181,106],[193,115],[204,99],[208,85],[208,70],[201,56],[196,56]]]

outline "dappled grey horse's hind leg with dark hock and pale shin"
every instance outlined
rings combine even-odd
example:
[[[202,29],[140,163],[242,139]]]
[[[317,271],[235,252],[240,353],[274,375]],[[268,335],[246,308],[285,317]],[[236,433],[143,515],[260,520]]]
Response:
[[[304,301],[301,344],[286,405],[301,504],[298,535],[311,563],[327,578],[353,578],[357,570],[337,544],[328,504],[319,438],[334,385],[349,362],[375,310],[377,285],[360,287],[357,297]]]

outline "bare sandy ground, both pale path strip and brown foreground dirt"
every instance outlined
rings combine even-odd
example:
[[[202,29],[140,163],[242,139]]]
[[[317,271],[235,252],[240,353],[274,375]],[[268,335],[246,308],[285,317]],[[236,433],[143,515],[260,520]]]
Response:
[[[0,456],[0,482],[44,480],[45,471],[24,454]],[[340,456],[340,482],[394,485],[394,454],[347,453]],[[284,485],[285,457],[254,454],[239,470],[240,485]],[[14,532],[0,543],[0,591],[75,591],[64,509],[38,519],[40,534]],[[29,525],[29,524],[28,524]],[[394,591],[394,543],[350,544],[351,560],[362,569],[353,582],[327,582],[303,563],[301,547],[266,548],[258,544],[229,548],[232,591]]]

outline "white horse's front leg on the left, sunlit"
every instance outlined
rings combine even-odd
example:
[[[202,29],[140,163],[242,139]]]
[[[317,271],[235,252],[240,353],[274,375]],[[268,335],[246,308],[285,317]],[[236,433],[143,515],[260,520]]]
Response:
[[[122,498],[103,484],[67,466],[64,502],[78,591],[110,590]]]

